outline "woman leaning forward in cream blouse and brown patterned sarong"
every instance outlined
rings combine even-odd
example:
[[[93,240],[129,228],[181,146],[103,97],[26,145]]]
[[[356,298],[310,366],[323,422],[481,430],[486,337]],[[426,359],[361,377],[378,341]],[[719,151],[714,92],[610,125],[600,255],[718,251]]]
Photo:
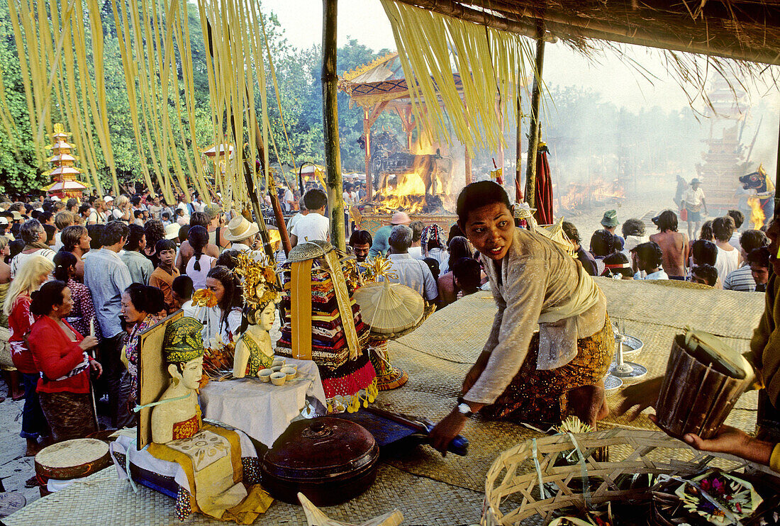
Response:
[[[498,312],[459,404],[433,429],[431,443],[445,451],[477,411],[543,425],[576,415],[595,427],[608,414],[603,378],[615,352],[604,294],[558,245],[516,228],[509,197],[495,182],[466,186],[457,214],[481,254]]]

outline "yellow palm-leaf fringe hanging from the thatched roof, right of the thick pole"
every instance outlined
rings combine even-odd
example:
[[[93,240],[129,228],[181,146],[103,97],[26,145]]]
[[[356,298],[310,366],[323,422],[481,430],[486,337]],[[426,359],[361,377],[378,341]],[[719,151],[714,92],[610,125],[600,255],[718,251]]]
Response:
[[[505,122],[516,118],[525,64],[534,64],[531,41],[393,0],[382,5],[409,80],[412,111],[426,123],[420,129],[449,142],[451,126],[471,154],[480,147],[498,150]]]

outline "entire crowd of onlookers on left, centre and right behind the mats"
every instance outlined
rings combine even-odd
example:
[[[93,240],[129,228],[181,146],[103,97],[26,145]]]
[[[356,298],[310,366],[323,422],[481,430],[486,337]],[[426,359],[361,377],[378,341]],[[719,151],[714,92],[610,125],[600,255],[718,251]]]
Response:
[[[357,189],[348,192],[359,198]],[[285,206],[298,210],[286,225],[293,245],[330,240],[324,191],[310,188],[297,203],[294,194],[284,197]],[[589,250],[574,224],[564,222],[563,230],[591,276],[763,291],[768,238],[759,230],[739,234],[743,221],[730,210],[702,224],[691,242],[672,210],[653,218],[652,235],[643,221],[620,224],[608,210]],[[105,396],[112,426],[135,425],[139,336],[168,314],[184,309],[200,317],[207,346],[236,341],[243,313],[231,270],[239,251],[261,251],[259,232],[257,223],[197,194],[171,207],[148,193],[0,203],[0,323],[9,329],[0,365],[9,396],[24,399],[27,454],[96,430],[92,397]],[[445,232],[397,212],[374,235],[352,231],[349,250],[359,262],[387,256],[386,279],[438,309],[488,288],[484,257],[458,223]],[[277,263],[284,259],[279,249]],[[213,294],[215,306],[193,306],[201,289]]]

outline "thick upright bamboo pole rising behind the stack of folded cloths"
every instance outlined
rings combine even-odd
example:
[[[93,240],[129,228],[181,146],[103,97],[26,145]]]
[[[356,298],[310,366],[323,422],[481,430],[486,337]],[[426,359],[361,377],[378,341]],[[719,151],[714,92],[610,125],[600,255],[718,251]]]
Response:
[[[339,104],[336,99],[336,15],[338,0],[322,0],[322,123],[325,139],[325,168],[328,171],[328,209],[331,214],[331,243],[346,250],[344,235],[344,189],[339,149]]]

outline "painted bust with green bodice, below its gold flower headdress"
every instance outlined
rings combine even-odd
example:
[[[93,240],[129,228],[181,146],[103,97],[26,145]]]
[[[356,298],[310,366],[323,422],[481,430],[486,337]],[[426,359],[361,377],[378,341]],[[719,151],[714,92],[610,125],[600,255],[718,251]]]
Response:
[[[233,357],[233,376],[257,376],[261,369],[271,367],[274,361],[274,349],[271,346],[271,334],[276,309],[274,302],[268,302],[261,308],[247,307],[246,321],[249,326],[236,342],[236,354]]]

